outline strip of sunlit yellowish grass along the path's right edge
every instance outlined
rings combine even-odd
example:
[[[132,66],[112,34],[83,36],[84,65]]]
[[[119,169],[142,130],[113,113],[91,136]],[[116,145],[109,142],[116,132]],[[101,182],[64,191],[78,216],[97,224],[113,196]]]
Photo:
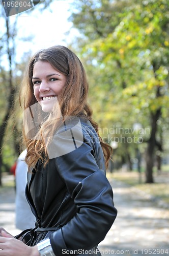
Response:
[[[133,186],[145,193],[162,200],[169,205],[169,172],[162,172],[160,175],[154,175],[155,183],[145,183],[145,173],[141,176],[137,172],[114,172],[107,173],[108,179],[120,180],[130,186]]]

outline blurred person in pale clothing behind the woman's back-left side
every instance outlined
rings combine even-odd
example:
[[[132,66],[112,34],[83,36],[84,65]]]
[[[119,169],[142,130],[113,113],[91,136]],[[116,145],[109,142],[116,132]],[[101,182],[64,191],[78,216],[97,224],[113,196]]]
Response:
[[[35,227],[35,216],[25,197],[25,187],[27,183],[27,164],[24,162],[26,150],[17,159],[15,179],[16,179],[16,228],[24,230]]]

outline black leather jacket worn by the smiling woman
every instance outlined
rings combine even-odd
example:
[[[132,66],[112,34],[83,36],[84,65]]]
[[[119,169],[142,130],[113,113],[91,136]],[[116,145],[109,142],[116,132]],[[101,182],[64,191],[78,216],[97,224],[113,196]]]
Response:
[[[45,167],[38,162],[28,177],[26,197],[40,228],[33,245],[49,237],[55,255],[100,255],[97,245],[117,216],[97,133],[89,121],[81,120],[81,128],[76,150]]]

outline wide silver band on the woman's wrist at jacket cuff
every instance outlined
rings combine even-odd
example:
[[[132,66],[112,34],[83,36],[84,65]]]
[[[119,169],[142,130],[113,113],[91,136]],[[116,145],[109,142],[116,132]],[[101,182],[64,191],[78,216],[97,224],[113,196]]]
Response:
[[[42,240],[37,246],[41,256],[55,256],[49,238]]]

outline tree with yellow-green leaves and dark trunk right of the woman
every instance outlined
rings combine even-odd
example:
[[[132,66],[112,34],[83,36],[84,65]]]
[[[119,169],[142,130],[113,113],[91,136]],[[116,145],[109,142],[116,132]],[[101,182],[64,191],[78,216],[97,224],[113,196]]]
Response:
[[[80,44],[82,56],[99,73],[99,78],[94,76],[99,79],[95,92],[99,90],[104,102],[102,113],[116,110],[108,125],[116,115],[130,129],[134,122],[150,129],[143,139],[147,142],[146,182],[152,183],[155,148],[159,146],[157,122],[168,115],[169,3],[77,2],[78,10],[71,20],[85,35]],[[126,108],[121,108],[122,102]]]

